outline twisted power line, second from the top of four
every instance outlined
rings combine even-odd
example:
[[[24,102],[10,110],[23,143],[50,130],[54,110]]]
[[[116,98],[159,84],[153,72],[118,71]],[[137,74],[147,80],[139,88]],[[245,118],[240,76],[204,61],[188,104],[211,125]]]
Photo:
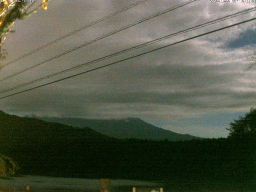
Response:
[[[165,14],[165,13],[167,13],[167,12],[170,12],[170,11],[172,11],[172,10],[175,10],[175,9],[178,9],[178,8],[180,8],[180,7],[182,7],[182,6],[185,6],[185,5],[187,5],[187,4],[190,4],[190,3],[194,2],[194,1],[197,1],[197,0],[189,0],[189,1],[183,2],[182,4],[176,5],[176,6],[172,7],[172,8],[168,8],[168,9],[166,9],[166,10],[164,10],[164,11],[161,11],[161,12],[158,12],[158,13],[153,14],[153,15],[151,15],[151,16],[148,16],[148,17],[146,17],[146,18],[144,18],[144,19],[142,19],[142,20],[139,20],[139,21],[137,21],[137,22],[134,22],[134,23],[132,23],[132,24],[129,24],[129,25],[127,25],[127,26],[124,26],[124,27],[122,27],[122,28],[119,28],[119,29],[117,29],[117,30],[114,30],[113,32],[110,32],[110,33],[108,33],[108,34],[105,34],[105,35],[103,35],[103,36],[100,36],[100,37],[98,37],[98,38],[96,38],[96,39],[94,39],[94,40],[91,40],[91,41],[89,41],[89,42],[85,42],[84,44],[81,44],[81,45],[79,45],[79,46],[76,46],[75,48],[72,48],[72,49],[70,49],[70,50],[67,50],[67,51],[65,51],[65,52],[62,52],[61,54],[58,54],[58,55],[56,55],[56,56],[54,56],[54,57],[52,57],[52,58],[48,58],[48,59],[46,59],[46,60],[44,60],[44,61],[42,61],[42,62],[40,62],[40,63],[38,63],[38,64],[35,64],[35,65],[30,66],[30,67],[28,67],[28,68],[26,68],[26,69],[24,69],[24,70],[20,70],[20,71],[18,71],[18,72],[16,72],[16,73],[12,74],[12,75],[10,75],[10,76],[7,76],[7,77],[5,77],[5,78],[2,78],[2,79],[0,80],[0,82],[6,80],[6,79],[8,79],[8,78],[11,78],[11,77],[13,77],[13,76],[16,76],[16,75],[18,75],[18,74],[21,74],[21,73],[23,73],[23,72],[25,72],[25,71],[28,71],[28,70],[30,70],[30,69],[32,69],[32,68],[35,68],[35,67],[37,67],[37,66],[40,66],[40,65],[42,65],[42,64],[44,64],[44,63],[46,63],[46,62],[48,62],[48,61],[51,61],[51,60],[54,60],[54,59],[59,58],[59,57],[61,57],[61,56],[64,56],[64,55],[66,55],[66,54],[68,54],[68,53],[70,53],[70,52],[72,52],[72,51],[75,51],[75,50],[77,50],[77,49],[79,49],[79,48],[82,48],[82,47],[84,47],[84,46],[87,46],[87,45],[89,45],[89,44],[92,44],[93,42],[96,42],[96,41],[98,41],[98,40],[101,40],[101,39],[103,39],[103,38],[106,38],[106,37],[108,37],[108,36],[111,36],[111,35],[113,35],[113,34],[116,34],[116,33],[120,32],[120,31],[122,31],[122,30],[125,30],[125,29],[127,29],[127,28],[132,27],[132,26],[135,26],[135,25],[137,25],[137,24],[140,24],[140,23],[142,23],[142,22],[145,22],[145,21],[147,21],[147,20],[150,20],[150,19],[152,19],[152,18],[154,18],[154,17],[160,16],[160,15],[162,15],[162,14]]]

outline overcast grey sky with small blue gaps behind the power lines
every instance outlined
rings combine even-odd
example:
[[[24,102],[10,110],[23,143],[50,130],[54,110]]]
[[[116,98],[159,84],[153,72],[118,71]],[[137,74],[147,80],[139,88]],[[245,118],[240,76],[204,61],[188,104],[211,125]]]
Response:
[[[6,63],[135,0],[51,0],[14,24],[2,48]],[[0,77],[37,64],[65,50],[126,26],[184,1],[148,0],[100,24],[15,62]],[[4,82],[11,88],[114,52],[255,6],[253,3],[210,3],[199,0],[80,48]],[[25,90],[96,66],[127,58],[228,24],[253,18],[255,12],[207,26],[116,58],[42,81]],[[56,84],[2,99],[1,109],[20,116],[127,118],[137,117],[182,134],[226,137],[225,127],[255,106],[255,68],[250,55],[256,44],[255,22],[212,33]],[[14,93],[18,90],[1,94]]]

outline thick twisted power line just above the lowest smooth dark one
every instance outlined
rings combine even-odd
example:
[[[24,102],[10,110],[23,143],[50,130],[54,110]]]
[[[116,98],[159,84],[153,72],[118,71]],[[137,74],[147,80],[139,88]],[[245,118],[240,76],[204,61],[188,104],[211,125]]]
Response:
[[[2,90],[0,91],[0,93],[4,93],[4,92],[9,92],[11,90],[16,90],[18,88],[21,88],[21,87],[24,87],[24,86],[27,86],[27,85],[30,85],[30,84],[34,84],[36,82],[40,82],[42,80],[45,80],[45,79],[48,79],[48,78],[52,78],[54,76],[58,76],[60,74],[64,74],[66,72],[70,72],[72,70],[76,70],[78,68],[82,68],[84,66],[88,66],[90,64],[94,64],[94,63],[97,63],[97,62],[100,62],[100,61],[103,61],[103,60],[106,60],[108,58],[112,58],[114,56],[117,56],[119,54],[124,54],[126,52],[129,52],[129,51],[132,51],[132,50],[136,50],[138,48],[142,48],[144,46],[148,46],[150,44],[154,44],[156,42],[159,42],[159,41],[162,41],[162,40],[166,40],[168,38],[171,38],[173,36],[177,36],[177,35],[180,35],[180,34],[183,34],[183,33],[186,33],[186,32],[190,32],[192,30],[196,30],[196,29],[199,29],[199,28],[203,28],[205,26],[208,26],[208,25],[212,25],[212,24],[215,24],[217,22],[221,22],[221,21],[224,21],[224,20],[227,20],[227,19],[230,19],[230,18],[234,18],[234,17],[237,17],[237,16],[241,16],[241,15],[244,15],[244,14],[247,14],[249,12],[253,12],[253,11],[256,11],[256,7],[254,8],[250,8],[250,9],[246,9],[246,10],[243,10],[243,11],[240,11],[240,12],[236,12],[234,14],[230,14],[228,16],[224,16],[224,17],[221,17],[221,18],[218,18],[218,19],[215,19],[215,20],[212,20],[212,21],[209,21],[209,22],[206,22],[206,23],[203,23],[203,24],[200,24],[200,25],[197,25],[197,26],[194,26],[194,27],[191,27],[191,28],[187,28],[185,30],[181,30],[179,32],[176,32],[176,33],[173,33],[173,34],[169,34],[167,36],[163,36],[161,38],[158,38],[158,39],[155,39],[155,40],[152,40],[152,41],[149,41],[149,42],[146,42],[146,43],[143,43],[143,44],[140,44],[140,45],[137,45],[137,46],[134,46],[134,47],[131,47],[131,48],[128,48],[128,49],[124,49],[122,51],[119,51],[119,52],[116,52],[116,53],[113,53],[113,54],[110,54],[110,55],[107,55],[107,56],[104,56],[104,57],[101,57],[101,58],[98,58],[98,59],[95,59],[95,60],[92,60],[92,61],[89,61],[89,62],[86,62],[84,64],[80,64],[78,66],[74,66],[72,68],[68,68],[66,70],[62,70],[60,72],[57,72],[57,73],[54,73],[54,74],[51,74],[51,75],[48,75],[48,76],[44,76],[42,78],[39,78],[39,79],[36,79],[36,80],[33,80],[33,81],[30,81],[30,82],[27,82],[27,83],[24,83],[24,84],[20,84],[18,86],[15,86],[15,87],[12,87],[12,88],[8,88],[6,90]]]

